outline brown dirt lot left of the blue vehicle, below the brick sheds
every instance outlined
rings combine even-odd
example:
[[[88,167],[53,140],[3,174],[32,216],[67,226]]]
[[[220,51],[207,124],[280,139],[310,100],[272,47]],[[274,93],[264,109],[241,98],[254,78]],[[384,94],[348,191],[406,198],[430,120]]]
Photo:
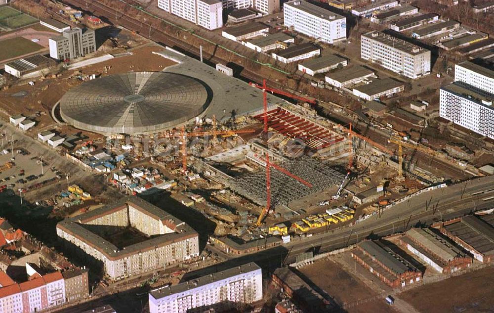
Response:
[[[348,304],[344,311],[348,313],[387,313],[395,312],[378,297],[378,293],[367,287],[359,278],[345,271],[339,264],[330,261],[318,261],[313,265],[299,269],[314,284],[326,291],[341,306]],[[367,303],[352,305],[358,300],[371,299]],[[432,311],[431,311],[432,312]]]

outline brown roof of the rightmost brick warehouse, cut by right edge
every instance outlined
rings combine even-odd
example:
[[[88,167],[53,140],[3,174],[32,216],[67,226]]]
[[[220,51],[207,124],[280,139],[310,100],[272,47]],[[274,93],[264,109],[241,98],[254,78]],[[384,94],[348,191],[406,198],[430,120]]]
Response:
[[[444,228],[478,252],[484,255],[494,254],[494,227],[486,221],[470,215]]]

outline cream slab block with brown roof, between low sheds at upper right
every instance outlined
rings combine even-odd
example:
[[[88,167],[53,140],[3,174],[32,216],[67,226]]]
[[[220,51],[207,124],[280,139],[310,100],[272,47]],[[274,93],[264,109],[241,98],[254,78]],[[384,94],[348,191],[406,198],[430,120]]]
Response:
[[[361,57],[412,79],[431,71],[429,50],[381,32],[362,35]]]

